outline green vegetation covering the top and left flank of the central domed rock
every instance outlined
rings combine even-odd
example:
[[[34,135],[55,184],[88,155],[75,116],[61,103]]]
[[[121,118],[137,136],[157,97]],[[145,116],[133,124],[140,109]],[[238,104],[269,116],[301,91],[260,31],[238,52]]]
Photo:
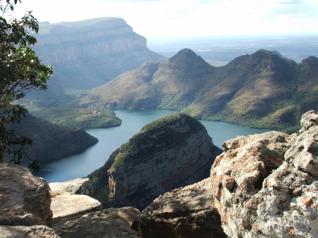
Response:
[[[182,128],[180,124],[183,122],[187,125],[187,129],[178,131],[175,127]],[[204,126],[200,122],[183,113],[165,116],[145,125],[128,142],[116,149],[103,167],[87,176],[93,183],[93,197],[104,207],[108,205],[109,196],[112,194],[108,187],[107,170],[120,169],[121,164],[127,159],[136,162],[139,158],[180,145],[190,134],[202,129]]]

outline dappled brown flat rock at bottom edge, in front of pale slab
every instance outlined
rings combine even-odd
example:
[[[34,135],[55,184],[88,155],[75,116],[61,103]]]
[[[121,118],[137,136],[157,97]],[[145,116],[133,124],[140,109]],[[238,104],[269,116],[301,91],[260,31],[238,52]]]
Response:
[[[52,228],[61,237],[139,237],[131,224],[139,210],[132,207],[109,208],[100,212],[66,217],[53,221]]]

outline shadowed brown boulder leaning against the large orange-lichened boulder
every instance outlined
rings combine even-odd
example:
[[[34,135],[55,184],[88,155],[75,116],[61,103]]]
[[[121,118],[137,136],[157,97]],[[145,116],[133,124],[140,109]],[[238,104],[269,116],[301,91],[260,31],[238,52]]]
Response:
[[[132,228],[145,238],[227,237],[214,208],[210,178],[160,195],[136,217]]]

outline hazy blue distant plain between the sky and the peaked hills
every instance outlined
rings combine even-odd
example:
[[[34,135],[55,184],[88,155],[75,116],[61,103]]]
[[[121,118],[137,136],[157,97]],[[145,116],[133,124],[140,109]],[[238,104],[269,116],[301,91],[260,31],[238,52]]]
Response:
[[[281,34],[245,36],[203,36],[148,40],[147,47],[164,56],[174,56],[189,48],[213,66],[223,66],[235,57],[257,50],[276,50],[300,63],[308,56],[318,56],[318,34]]]

